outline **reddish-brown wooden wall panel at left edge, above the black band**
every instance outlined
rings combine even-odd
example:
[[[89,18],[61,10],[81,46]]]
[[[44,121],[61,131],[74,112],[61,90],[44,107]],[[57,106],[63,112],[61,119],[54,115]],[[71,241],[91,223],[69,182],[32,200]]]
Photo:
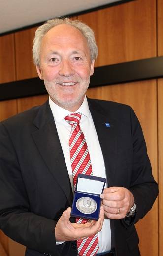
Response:
[[[15,81],[14,35],[0,37],[0,83]]]

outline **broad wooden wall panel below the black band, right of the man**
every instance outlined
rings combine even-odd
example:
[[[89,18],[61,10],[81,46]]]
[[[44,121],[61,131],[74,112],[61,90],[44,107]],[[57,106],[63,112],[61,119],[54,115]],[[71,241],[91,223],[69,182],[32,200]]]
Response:
[[[158,180],[157,155],[157,89],[156,81],[143,81],[90,88],[90,98],[111,100],[130,105],[141,123],[153,175]],[[146,217],[136,224],[140,237],[141,256],[158,255],[158,202]],[[149,236],[150,234],[150,236]]]

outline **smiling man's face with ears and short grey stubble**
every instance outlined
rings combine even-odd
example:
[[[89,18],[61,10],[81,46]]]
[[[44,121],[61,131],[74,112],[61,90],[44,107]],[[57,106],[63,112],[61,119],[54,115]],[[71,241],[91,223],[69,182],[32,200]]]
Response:
[[[41,42],[37,72],[51,99],[75,112],[84,100],[94,73],[86,38],[67,24],[50,29]]]

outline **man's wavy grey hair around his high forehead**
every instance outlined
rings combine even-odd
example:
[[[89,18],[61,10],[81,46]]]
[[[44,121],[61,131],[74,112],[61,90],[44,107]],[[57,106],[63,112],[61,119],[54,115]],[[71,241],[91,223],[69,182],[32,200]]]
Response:
[[[41,48],[41,41],[43,36],[53,27],[60,25],[60,24],[68,24],[71,25],[83,34],[83,36],[87,39],[88,47],[90,49],[90,56],[91,60],[95,60],[98,56],[98,47],[95,41],[95,35],[93,30],[86,25],[85,23],[78,21],[78,20],[70,20],[69,18],[57,18],[46,21],[43,25],[37,28],[35,31],[35,37],[33,40],[33,61],[34,64],[39,66],[40,65],[40,48]]]

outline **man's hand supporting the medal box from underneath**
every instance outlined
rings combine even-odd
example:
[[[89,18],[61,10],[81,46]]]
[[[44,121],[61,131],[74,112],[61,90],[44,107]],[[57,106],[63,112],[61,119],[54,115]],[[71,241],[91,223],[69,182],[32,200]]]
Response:
[[[102,229],[104,210],[101,206],[98,221],[92,220],[85,224],[71,223],[69,221],[71,208],[63,212],[55,227],[56,241],[72,241],[95,235]]]

